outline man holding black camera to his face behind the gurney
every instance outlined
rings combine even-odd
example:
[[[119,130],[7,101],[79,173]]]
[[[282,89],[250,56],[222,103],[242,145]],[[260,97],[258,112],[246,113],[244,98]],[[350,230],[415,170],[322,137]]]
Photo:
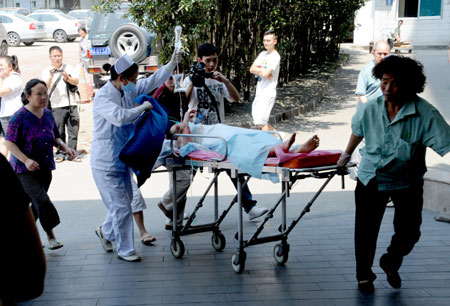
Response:
[[[219,49],[210,43],[202,44],[197,51],[197,63],[191,67],[189,78],[184,80],[186,96],[189,99],[189,110],[196,109],[195,123],[217,124],[225,119],[224,98],[231,102],[239,101],[239,93],[222,73],[216,71],[219,62]],[[194,175],[196,169],[194,169]],[[227,172],[228,175],[231,173]],[[170,173],[171,175],[171,173]],[[244,179],[240,178],[241,183]],[[237,180],[232,179],[237,185]],[[170,179],[172,182],[172,179]],[[178,222],[182,220],[184,206],[186,204],[186,193],[190,186],[190,171],[177,172],[177,213]],[[253,220],[267,213],[268,209],[256,205],[247,185],[242,188],[243,207],[248,218]],[[158,207],[171,219],[172,215],[172,186],[164,194]],[[180,224],[177,224],[179,226]],[[166,229],[172,229],[172,223],[166,223]]]

